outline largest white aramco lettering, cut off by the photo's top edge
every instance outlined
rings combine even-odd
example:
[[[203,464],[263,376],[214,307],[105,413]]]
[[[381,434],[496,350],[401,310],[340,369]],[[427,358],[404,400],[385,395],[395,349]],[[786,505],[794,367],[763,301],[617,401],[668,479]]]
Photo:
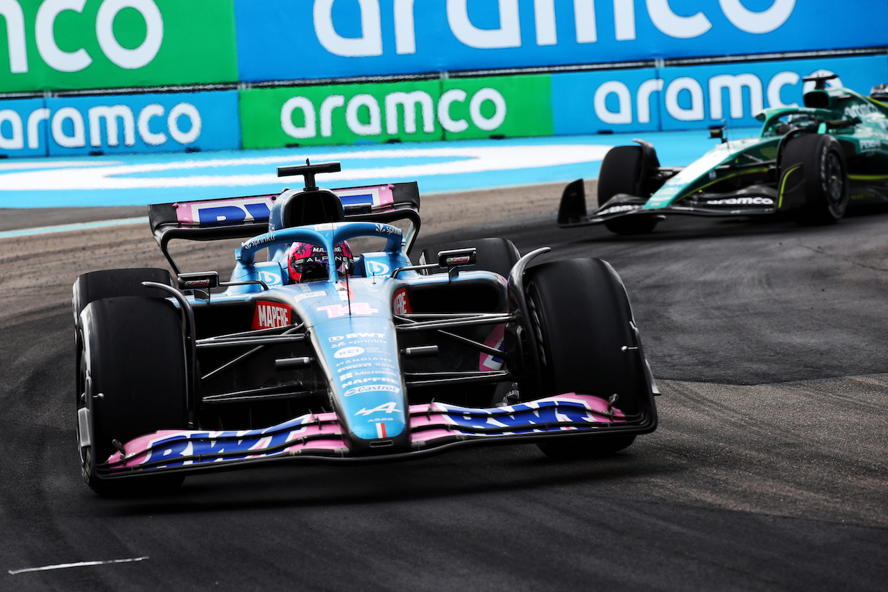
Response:
[[[361,58],[383,55],[383,27],[379,0],[358,0],[360,7],[361,36],[344,37],[337,33],[333,23],[335,0],[315,0],[313,6],[314,32],[324,49],[337,56]],[[399,55],[416,53],[416,0],[394,0],[393,27],[395,51]],[[476,49],[503,49],[521,47],[521,22],[519,0],[497,0],[499,28],[478,28],[469,15],[469,0],[447,0],[447,20],[450,32],[456,40]],[[567,2],[562,3],[567,4]],[[597,5],[594,0],[574,0],[573,20],[576,43],[597,43],[599,30],[596,21]],[[599,3],[610,4],[610,3]],[[634,2],[614,0],[614,36],[616,41],[632,41],[636,38],[636,7]],[[639,3],[640,4],[640,3]],[[702,36],[712,28],[712,22],[702,11],[690,16],[672,12],[667,0],[647,0],[647,17],[662,34],[676,39]],[[713,10],[715,3],[706,5]],[[741,0],[719,0],[718,5],[727,20],[746,33],[762,35],[779,28],[789,19],[796,0],[773,0],[770,8],[761,12],[750,11]],[[569,10],[569,6],[565,7]],[[559,15],[562,13],[559,12]],[[564,18],[562,16],[562,18]],[[529,18],[524,19],[530,22]],[[557,20],[555,0],[534,0],[533,22],[536,45],[557,45]],[[423,33],[420,32],[420,36]],[[431,50],[432,48],[430,48]],[[439,48],[434,48],[439,49]]]

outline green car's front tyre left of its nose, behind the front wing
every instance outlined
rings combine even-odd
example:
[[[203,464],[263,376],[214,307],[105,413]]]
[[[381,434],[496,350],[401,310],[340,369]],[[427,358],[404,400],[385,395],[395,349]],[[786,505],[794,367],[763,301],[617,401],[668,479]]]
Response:
[[[625,193],[647,198],[644,193],[642,165],[644,153],[641,146],[616,146],[605,154],[599,171],[599,208],[614,195]],[[654,230],[658,220],[654,216],[626,216],[605,222],[607,230],[617,234],[647,234]]]

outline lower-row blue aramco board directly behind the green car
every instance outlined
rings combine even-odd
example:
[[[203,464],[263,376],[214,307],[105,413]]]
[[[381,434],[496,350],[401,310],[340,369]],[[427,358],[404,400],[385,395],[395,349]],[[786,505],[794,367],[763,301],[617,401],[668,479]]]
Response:
[[[757,126],[767,107],[802,105],[803,78],[867,95],[888,83],[888,56],[793,59],[551,75],[556,135]],[[807,83],[808,87],[813,83]]]

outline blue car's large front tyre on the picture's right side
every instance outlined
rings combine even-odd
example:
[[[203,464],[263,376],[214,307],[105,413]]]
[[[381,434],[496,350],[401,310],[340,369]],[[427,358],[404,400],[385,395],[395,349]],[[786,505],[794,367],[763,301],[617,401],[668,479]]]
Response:
[[[638,413],[646,375],[633,346],[629,297],[614,268],[600,259],[537,265],[525,274],[527,306],[537,342],[542,396],[617,393],[617,407]],[[552,458],[591,458],[630,446],[634,435],[559,437],[539,443]]]

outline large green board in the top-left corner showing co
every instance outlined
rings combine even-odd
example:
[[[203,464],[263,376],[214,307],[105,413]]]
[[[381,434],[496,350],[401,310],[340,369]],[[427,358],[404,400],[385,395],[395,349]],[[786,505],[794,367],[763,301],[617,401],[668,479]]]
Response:
[[[234,83],[234,0],[7,0],[0,92]]]

